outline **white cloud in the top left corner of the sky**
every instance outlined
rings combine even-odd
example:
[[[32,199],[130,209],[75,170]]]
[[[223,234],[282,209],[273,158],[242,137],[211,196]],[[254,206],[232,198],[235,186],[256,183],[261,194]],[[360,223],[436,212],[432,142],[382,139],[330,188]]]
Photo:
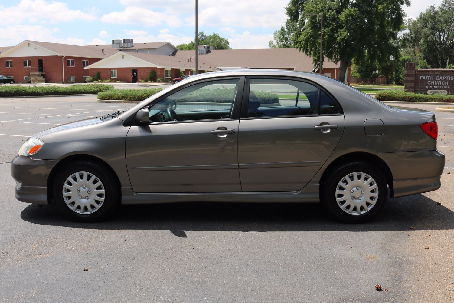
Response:
[[[0,6],[2,24],[22,24],[24,21],[56,23],[59,21],[96,20],[81,10],[70,10],[68,4],[45,0],[22,0],[15,6]]]

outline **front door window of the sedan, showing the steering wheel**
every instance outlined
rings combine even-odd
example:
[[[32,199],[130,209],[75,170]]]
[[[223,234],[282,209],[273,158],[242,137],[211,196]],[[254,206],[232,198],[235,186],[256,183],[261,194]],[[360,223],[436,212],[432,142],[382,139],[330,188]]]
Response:
[[[150,107],[150,122],[231,118],[238,82],[219,80],[183,88]]]

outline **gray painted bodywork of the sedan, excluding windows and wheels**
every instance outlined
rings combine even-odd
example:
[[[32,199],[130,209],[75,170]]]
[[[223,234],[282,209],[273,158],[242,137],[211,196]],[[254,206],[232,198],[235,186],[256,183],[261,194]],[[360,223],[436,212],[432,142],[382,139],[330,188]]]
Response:
[[[343,115],[128,126],[138,110],[170,91],[232,76],[312,81],[337,99]],[[382,135],[366,134],[368,119],[383,121]],[[326,76],[276,70],[221,71],[192,76],[109,121],[89,119],[40,132],[34,137],[43,140],[44,146],[32,157],[37,162],[59,161],[77,154],[98,157],[117,174],[125,204],[194,200],[313,202],[319,199],[322,174],[333,161],[352,152],[364,152],[382,157],[391,170],[395,195],[404,196],[440,186],[444,155],[436,151],[436,141],[420,129],[421,123],[434,120],[433,113],[391,108]],[[321,133],[313,128],[321,122],[338,128]],[[225,138],[211,134],[220,126],[235,133]],[[316,162],[320,165],[312,165]],[[262,167],[247,168],[256,165]],[[17,174],[15,163],[11,168],[16,180],[28,179],[30,170]],[[30,197],[27,202],[43,199]]]

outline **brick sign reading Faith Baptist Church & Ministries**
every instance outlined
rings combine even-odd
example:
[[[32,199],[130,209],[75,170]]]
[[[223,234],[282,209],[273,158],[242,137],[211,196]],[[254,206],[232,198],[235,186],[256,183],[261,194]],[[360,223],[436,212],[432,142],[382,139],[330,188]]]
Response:
[[[416,69],[405,63],[405,91],[423,94],[454,94],[454,69]]]

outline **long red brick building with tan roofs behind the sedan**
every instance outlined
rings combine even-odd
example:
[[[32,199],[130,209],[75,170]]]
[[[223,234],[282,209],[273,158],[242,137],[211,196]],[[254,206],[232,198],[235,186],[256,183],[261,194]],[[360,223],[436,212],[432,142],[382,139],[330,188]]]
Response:
[[[178,51],[170,42],[134,44],[128,40],[127,44],[119,45],[68,45],[25,40],[13,47],[0,47],[0,75],[13,76],[16,82],[80,83],[99,71],[101,79],[135,82],[148,80],[154,69],[158,78],[172,80],[179,71],[186,75],[195,71],[194,57],[195,51]],[[198,64],[199,72],[240,68],[313,69],[312,58],[296,48],[211,50],[202,45]],[[325,60],[322,73],[337,78],[339,65]],[[345,80],[350,83],[350,68]]]

